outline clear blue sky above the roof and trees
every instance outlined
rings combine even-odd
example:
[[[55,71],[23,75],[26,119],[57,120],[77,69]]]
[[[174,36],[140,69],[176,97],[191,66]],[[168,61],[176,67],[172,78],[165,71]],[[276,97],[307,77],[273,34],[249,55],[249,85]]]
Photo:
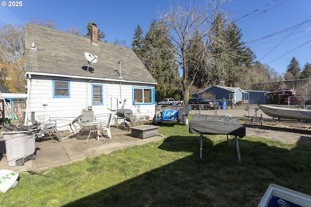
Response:
[[[51,19],[60,31],[74,27],[84,34],[90,21],[104,32],[104,40],[108,43],[118,39],[125,40],[127,45],[131,45],[138,24],[145,35],[153,19],[158,17],[158,11],[165,12],[170,3],[177,2],[22,0],[22,6],[9,7],[8,0],[0,1],[0,26],[24,25],[35,18]],[[178,2],[189,3],[189,0]],[[203,0],[192,2],[204,3]],[[293,57],[301,68],[307,62],[311,63],[311,0],[231,0],[224,8],[231,13],[230,20],[242,30],[242,41],[261,63],[270,65],[280,74],[286,72]]]

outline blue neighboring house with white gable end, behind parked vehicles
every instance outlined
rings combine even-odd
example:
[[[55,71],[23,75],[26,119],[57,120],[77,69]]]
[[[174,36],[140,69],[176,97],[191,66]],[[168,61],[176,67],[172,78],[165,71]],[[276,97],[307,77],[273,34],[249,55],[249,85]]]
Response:
[[[203,91],[199,91],[191,95],[194,98],[201,98],[204,97],[204,95],[209,95],[212,97],[210,99],[216,100],[217,102],[220,102],[222,100],[231,102],[231,100],[233,100],[234,104],[236,104],[238,101],[248,103],[249,100],[249,93],[243,91],[239,87],[226,87],[219,85],[210,86]]]

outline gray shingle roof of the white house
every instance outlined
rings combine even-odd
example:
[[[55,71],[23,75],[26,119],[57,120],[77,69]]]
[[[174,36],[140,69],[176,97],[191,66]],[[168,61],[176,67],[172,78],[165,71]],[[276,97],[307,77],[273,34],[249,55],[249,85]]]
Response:
[[[31,49],[32,43],[35,49]],[[127,80],[156,83],[146,67],[130,48],[98,42],[91,44],[86,37],[60,32],[26,22],[25,30],[26,71],[91,78]],[[98,62],[91,63],[86,73],[85,52],[97,55]],[[119,62],[121,60],[121,76]],[[117,71],[115,71],[117,70]]]

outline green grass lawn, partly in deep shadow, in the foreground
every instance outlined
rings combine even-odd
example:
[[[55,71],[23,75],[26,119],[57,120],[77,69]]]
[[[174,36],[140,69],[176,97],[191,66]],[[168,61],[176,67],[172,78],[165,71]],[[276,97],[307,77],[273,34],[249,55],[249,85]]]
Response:
[[[244,137],[239,163],[225,135],[204,135],[199,159],[188,126],[159,133],[170,137],[38,172],[50,177],[20,173],[0,206],[250,207],[271,183],[311,194],[311,146]]]

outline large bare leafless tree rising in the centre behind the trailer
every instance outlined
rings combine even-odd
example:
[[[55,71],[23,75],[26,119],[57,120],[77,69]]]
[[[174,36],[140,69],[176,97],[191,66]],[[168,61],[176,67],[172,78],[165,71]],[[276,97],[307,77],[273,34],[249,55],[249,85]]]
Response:
[[[189,99],[189,91],[199,70],[213,71],[225,75],[224,58],[215,59],[212,52],[207,51],[207,46],[212,41],[218,42],[214,35],[212,26],[216,16],[219,14],[219,5],[223,0],[211,0],[202,7],[192,5],[186,9],[181,5],[176,8],[170,7],[169,11],[161,14],[163,23],[166,24],[169,37],[176,49],[176,63],[182,70],[182,87],[185,101]],[[201,42],[204,44],[202,45]],[[191,46],[191,47],[190,47]],[[204,48],[202,48],[204,47]],[[187,51],[188,50],[188,51]],[[226,54],[222,54],[226,56]],[[215,67],[217,65],[218,67]]]

